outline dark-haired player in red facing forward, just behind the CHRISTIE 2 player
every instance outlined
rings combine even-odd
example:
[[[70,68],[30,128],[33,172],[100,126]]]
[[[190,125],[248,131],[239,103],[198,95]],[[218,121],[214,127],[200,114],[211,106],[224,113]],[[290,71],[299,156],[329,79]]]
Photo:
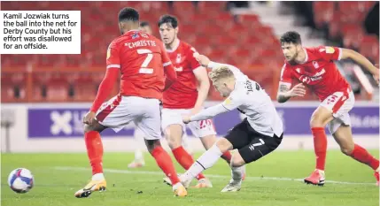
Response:
[[[188,43],[178,39],[178,21],[175,17],[164,15],[159,19],[159,34],[172,60],[178,80],[164,92],[164,109],[162,110],[162,129],[175,159],[185,170],[188,170],[194,159],[182,147],[182,137],[186,135],[186,126],[182,115],[196,114],[202,109],[206,100],[210,81],[206,68],[199,65],[193,57],[196,50]],[[215,130],[211,119],[195,121],[189,124],[194,136],[199,137],[206,149],[216,141]],[[231,155],[222,156],[228,163]],[[200,173],[196,187],[212,187],[211,182]],[[166,179],[167,183],[170,184]]]

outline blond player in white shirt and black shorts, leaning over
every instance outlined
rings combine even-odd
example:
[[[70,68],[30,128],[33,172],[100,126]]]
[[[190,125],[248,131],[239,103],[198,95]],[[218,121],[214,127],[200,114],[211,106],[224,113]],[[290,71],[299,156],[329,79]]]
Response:
[[[236,192],[241,188],[244,164],[268,155],[280,145],[283,140],[283,122],[264,89],[240,72],[237,67],[211,62],[203,55],[196,54],[195,56],[201,65],[213,69],[209,73],[213,86],[227,99],[193,116],[184,116],[183,122],[213,118],[234,109],[244,113],[246,118],[200,156],[190,169],[181,175],[180,179],[184,187],[189,187],[191,180],[199,172],[212,167],[221,154],[237,149],[230,164],[232,179],[221,190],[221,192]]]

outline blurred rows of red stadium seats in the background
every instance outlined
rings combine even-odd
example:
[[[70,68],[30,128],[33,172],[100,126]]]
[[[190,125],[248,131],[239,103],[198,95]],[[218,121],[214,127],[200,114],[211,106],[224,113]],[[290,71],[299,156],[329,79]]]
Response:
[[[4,2],[2,10],[81,10],[81,55],[2,55],[2,71],[31,72],[30,88],[27,73],[23,82],[2,76],[3,101],[12,101],[12,88],[22,85],[27,94],[17,101],[92,101],[97,86],[105,73],[105,53],[109,43],[119,36],[117,13],[121,7],[130,6],[140,12],[142,20],[153,27],[159,37],[157,22],[161,15],[171,13],[180,23],[180,39],[193,45],[214,61],[237,65],[247,70],[263,88],[273,93],[273,82],[283,65],[280,42],[272,27],[263,25],[255,14],[232,15],[226,11],[227,2]],[[333,39],[343,38],[344,46],[361,51],[378,62],[378,39],[368,37],[362,25],[368,11],[376,2],[314,2],[316,27],[329,27]],[[186,10],[182,9],[186,8]],[[277,48],[278,47],[278,48]],[[268,50],[270,48],[270,50]],[[271,70],[274,69],[275,70]],[[260,71],[261,72],[258,72]],[[272,73],[270,73],[270,72]],[[68,72],[73,76],[72,78]],[[271,75],[273,74],[273,75]],[[11,75],[11,74],[9,74]],[[58,75],[58,76],[57,76]],[[272,80],[264,78],[265,75]],[[12,76],[12,75],[11,75]],[[23,84],[21,84],[23,83]],[[71,89],[71,90],[70,90]],[[118,88],[112,91],[117,93]],[[69,92],[74,91],[73,98]],[[14,94],[13,94],[14,95]],[[217,91],[210,90],[209,97],[221,100]],[[273,96],[272,96],[273,97]],[[311,97],[314,98],[314,97]]]

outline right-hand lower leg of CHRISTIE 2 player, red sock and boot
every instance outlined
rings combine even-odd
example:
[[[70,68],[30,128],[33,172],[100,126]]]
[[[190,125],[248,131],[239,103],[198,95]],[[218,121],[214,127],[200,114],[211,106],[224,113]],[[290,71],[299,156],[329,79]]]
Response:
[[[167,175],[167,178],[170,179],[173,185],[173,192],[175,196],[186,196],[186,188],[182,186],[180,179],[178,178],[177,172],[175,172],[174,164],[170,158],[167,151],[161,147],[159,140],[145,140],[148,151],[151,153],[151,156],[154,157],[159,168],[162,172]]]

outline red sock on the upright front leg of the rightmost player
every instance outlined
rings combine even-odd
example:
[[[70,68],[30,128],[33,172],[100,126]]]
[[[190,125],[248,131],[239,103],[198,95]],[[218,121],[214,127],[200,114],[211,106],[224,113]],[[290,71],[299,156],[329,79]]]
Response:
[[[314,136],[314,153],[316,159],[315,168],[324,171],[326,163],[327,136],[323,127],[313,127],[312,133]]]

